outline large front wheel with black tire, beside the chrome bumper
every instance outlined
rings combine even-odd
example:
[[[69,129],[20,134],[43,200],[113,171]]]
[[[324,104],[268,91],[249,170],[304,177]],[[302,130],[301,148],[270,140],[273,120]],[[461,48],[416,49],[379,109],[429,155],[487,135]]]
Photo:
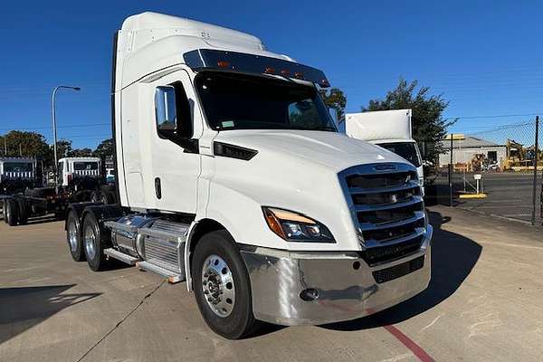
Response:
[[[196,244],[192,275],[198,309],[210,329],[228,339],[254,332],[251,282],[230,233],[220,230],[202,237]]]

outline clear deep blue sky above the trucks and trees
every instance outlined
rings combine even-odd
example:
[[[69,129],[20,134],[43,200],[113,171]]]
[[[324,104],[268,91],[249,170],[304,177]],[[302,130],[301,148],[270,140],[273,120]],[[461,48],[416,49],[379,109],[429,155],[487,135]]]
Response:
[[[443,94],[452,132],[543,116],[543,2],[6,1],[0,5],[0,134],[34,130],[95,148],[110,137],[113,33],[130,14],[175,14],[252,33],[317,67],[356,112],[399,77]]]

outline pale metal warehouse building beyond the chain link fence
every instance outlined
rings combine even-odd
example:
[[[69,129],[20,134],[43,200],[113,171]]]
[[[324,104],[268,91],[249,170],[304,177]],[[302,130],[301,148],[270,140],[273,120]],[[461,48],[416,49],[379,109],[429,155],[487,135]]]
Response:
[[[441,142],[442,147],[447,151],[439,155],[439,166],[446,167],[451,161],[451,148],[450,140],[443,140]],[[505,145],[499,145],[482,138],[475,138],[467,136],[464,139],[452,140],[452,164],[469,164],[473,157],[476,155],[484,155],[490,163],[498,162],[499,165],[503,164],[507,157],[507,150]]]

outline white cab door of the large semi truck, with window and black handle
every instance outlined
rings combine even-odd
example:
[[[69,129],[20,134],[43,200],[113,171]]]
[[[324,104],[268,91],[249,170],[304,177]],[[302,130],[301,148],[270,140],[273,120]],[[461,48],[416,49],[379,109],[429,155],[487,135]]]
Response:
[[[158,210],[195,214],[200,155],[195,139],[195,95],[186,71],[153,82],[152,197]],[[148,175],[149,176],[149,175]]]

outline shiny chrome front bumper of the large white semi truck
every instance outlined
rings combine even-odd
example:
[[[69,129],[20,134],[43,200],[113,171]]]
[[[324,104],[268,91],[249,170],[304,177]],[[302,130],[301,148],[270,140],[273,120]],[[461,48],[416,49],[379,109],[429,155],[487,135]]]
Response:
[[[418,252],[374,267],[356,252],[242,248],[251,279],[254,317],[281,325],[317,325],[357,319],[408,300],[430,282],[432,233],[428,225]],[[394,271],[393,267],[401,271],[417,258],[424,260],[422,268],[391,281],[378,283],[374,278],[375,271]],[[303,300],[300,293],[308,289],[316,298]]]

